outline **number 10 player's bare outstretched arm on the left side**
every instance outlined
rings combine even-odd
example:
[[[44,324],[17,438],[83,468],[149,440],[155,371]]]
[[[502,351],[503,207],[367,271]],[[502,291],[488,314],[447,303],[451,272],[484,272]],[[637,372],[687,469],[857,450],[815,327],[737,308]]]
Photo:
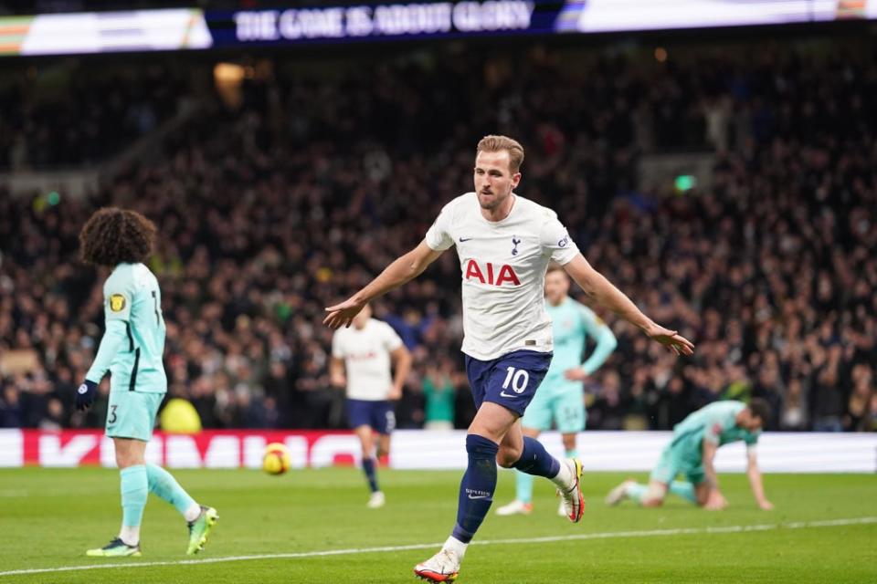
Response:
[[[380,275],[354,296],[344,300],[341,304],[326,308],[326,312],[329,314],[322,323],[329,328],[349,327],[354,317],[371,300],[420,276],[427,269],[427,266],[436,261],[441,254],[441,251],[429,247],[426,240],[420,242],[420,245],[417,245],[406,255],[402,255],[392,264],[386,266]]]

